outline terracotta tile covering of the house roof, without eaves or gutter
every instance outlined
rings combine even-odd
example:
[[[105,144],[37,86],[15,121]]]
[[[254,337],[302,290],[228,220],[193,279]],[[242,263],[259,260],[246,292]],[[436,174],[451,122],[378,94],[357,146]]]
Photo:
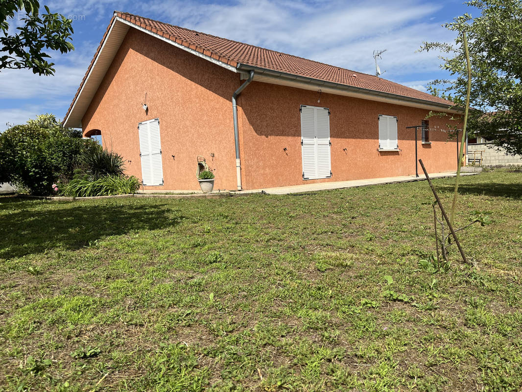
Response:
[[[203,32],[169,25],[133,14],[116,12],[116,16],[234,67],[237,66],[238,63],[241,63],[266,68],[272,71],[325,80],[326,82],[339,83],[453,106],[452,102],[445,99],[402,86],[398,83],[390,82],[390,80],[374,75],[355,72],[347,70],[346,68],[303,59],[302,57],[293,56],[291,54],[212,36]]]

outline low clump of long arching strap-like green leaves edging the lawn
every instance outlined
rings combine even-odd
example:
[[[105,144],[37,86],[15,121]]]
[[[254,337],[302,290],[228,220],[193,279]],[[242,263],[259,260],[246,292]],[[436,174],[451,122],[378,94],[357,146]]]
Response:
[[[64,188],[63,194],[69,197],[110,196],[114,194],[136,193],[139,180],[134,177],[105,176],[91,180],[89,176],[76,177]]]

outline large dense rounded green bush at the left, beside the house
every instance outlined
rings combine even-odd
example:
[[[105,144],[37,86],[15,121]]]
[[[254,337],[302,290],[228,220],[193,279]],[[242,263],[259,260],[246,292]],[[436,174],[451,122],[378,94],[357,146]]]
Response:
[[[53,192],[58,179],[70,179],[79,157],[100,146],[81,138],[81,132],[63,128],[53,114],[0,134],[0,182],[11,182],[31,194]]]

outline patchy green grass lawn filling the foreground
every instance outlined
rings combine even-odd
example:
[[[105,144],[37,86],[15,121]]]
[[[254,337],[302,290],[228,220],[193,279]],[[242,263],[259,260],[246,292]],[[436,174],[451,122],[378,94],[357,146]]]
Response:
[[[435,180],[449,208],[453,179]],[[522,172],[219,200],[0,198],[0,390],[520,391]]]

